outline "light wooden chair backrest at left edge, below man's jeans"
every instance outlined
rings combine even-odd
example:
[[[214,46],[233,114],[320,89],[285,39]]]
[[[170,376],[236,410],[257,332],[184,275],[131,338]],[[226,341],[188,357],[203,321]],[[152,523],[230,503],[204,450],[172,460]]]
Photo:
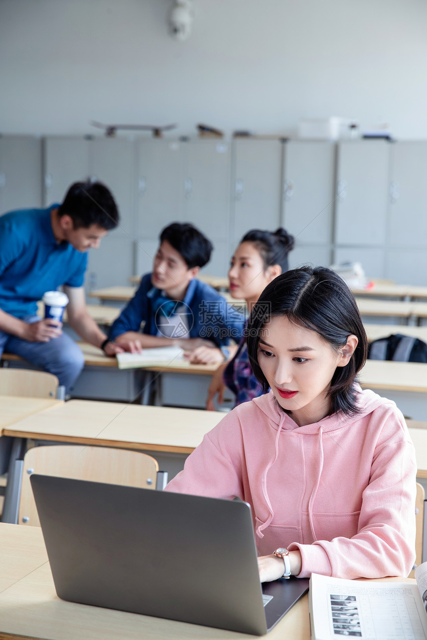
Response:
[[[0,368],[0,396],[54,398],[59,380],[52,373]]]

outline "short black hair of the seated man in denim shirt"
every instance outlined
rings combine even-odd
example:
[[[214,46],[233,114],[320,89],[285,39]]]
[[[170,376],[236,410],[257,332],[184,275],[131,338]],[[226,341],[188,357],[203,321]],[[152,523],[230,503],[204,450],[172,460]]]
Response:
[[[165,227],[160,234],[160,242],[165,240],[181,255],[189,269],[204,267],[211,259],[211,241],[188,222],[173,222]]]

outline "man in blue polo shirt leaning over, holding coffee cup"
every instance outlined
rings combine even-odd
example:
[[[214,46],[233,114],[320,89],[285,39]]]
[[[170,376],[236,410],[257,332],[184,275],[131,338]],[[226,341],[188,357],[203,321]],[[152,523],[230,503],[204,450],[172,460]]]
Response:
[[[86,311],[83,281],[88,250],[99,247],[118,218],[114,198],[100,182],[72,184],[61,205],[0,216],[0,355],[19,355],[70,390],[83,369],[83,353],[60,322],[36,315],[37,301],[64,285],[70,326],[97,347],[107,342]],[[122,349],[109,343],[105,351]]]

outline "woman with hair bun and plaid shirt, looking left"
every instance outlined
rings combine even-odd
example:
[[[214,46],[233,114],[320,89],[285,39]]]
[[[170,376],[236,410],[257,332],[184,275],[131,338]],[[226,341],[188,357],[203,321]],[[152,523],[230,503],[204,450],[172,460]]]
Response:
[[[287,255],[293,246],[293,236],[283,228],[275,232],[261,229],[248,231],[230,262],[232,298],[245,300],[250,313],[271,280],[289,268]],[[261,386],[252,372],[245,337],[239,342],[236,355],[214,373],[207,395],[207,410],[215,410],[214,397],[217,394],[218,402],[222,403],[226,387],[236,396],[236,406],[262,394]]]

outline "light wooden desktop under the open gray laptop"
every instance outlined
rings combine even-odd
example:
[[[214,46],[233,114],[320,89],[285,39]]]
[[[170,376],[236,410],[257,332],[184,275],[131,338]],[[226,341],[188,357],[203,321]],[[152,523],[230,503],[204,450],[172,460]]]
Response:
[[[38,527],[0,524],[0,548],[0,640],[254,639],[247,634],[60,600]],[[407,578],[383,580],[415,582]],[[265,637],[310,640],[308,596],[303,596]]]

